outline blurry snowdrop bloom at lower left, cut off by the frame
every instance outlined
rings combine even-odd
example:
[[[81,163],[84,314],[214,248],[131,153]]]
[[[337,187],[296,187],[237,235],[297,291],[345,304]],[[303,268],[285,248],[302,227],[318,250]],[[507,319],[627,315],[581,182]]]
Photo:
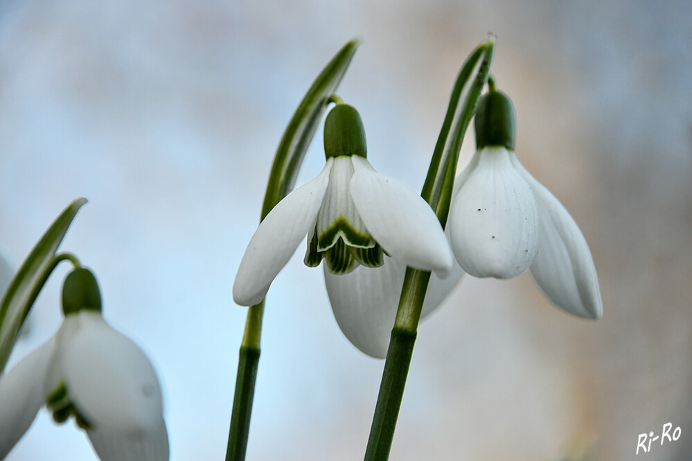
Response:
[[[139,347],[103,320],[94,275],[70,273],[62,299],[57,332],[0,377],[0,459],[46,405],[56,422],[75,417],[104,461],[168,460],[159,381]]]

